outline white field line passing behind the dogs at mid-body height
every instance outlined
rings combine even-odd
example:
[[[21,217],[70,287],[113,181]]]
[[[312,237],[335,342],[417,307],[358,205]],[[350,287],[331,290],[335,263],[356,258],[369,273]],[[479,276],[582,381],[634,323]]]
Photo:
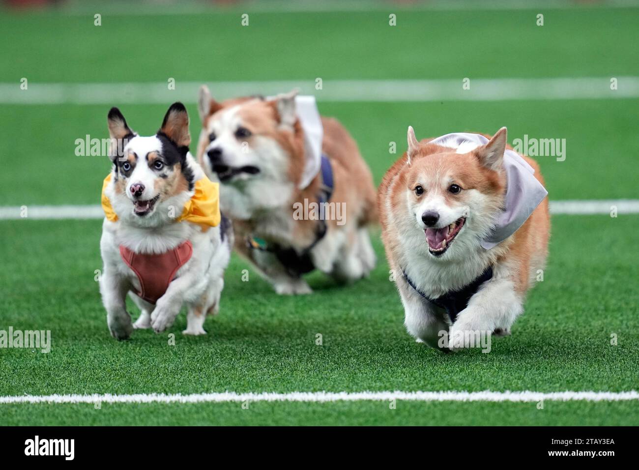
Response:
[[[550,213],[553,215],[597,215],[610,214],[612,207],[617,214],[639,214],[639,200],[593,200],[593,201],[550,201]],[[26,207],[27,217],[23,217],[20,206],[0,206],[0,220],[66,220],[66,219],[104,219],[100,205],[61,205]]]

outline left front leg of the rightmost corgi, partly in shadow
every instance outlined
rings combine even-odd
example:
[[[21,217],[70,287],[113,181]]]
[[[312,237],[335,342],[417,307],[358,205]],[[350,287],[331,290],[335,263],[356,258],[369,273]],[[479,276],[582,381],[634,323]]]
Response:
[[[445,349],[445,341],[440,341],[448,333],[449,325],[438,317],[436,308],[427,302],[406,283],[397,279],[399,297],[404,305],[404,325],[415,340],[432,348]]]

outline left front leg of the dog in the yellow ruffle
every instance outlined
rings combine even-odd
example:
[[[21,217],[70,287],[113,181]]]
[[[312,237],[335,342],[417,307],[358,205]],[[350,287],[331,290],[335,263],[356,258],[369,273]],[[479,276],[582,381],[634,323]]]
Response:
[[[126,304],[128,281],[118,274],[111,274],[112,272],[105,267],[104,273],[100,276],[102,303],[107,311],[107,325],[111,336],[117,340],[127,340],[133,331],[131,315]]]

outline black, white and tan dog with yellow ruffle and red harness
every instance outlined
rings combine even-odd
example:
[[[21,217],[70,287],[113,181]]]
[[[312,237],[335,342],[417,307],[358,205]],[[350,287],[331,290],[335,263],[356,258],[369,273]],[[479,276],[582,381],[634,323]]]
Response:
[[[100,292],[118,340],[134,328],[156,333],[187,306],[185,334],[205,334],[219,309],[233,231],[219,210],[219,188],[189,153],[189,116],[174,103],[162,127],[138,136],[114,107],[108,116],[111,173],[102,189]],[[141,315],[132,324],[126,297]]]

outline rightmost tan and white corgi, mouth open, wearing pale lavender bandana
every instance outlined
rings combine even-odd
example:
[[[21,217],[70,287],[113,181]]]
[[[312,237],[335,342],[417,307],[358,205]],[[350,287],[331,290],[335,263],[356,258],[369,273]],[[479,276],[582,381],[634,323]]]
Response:
[[[510,334],[543,269],[548,194],[537,163],[491,139],[447,134],[418,142],[378,191],[382,239],[417,341],[470,347],[476,334]],[[445,338],[445,341],[442,341]]]

